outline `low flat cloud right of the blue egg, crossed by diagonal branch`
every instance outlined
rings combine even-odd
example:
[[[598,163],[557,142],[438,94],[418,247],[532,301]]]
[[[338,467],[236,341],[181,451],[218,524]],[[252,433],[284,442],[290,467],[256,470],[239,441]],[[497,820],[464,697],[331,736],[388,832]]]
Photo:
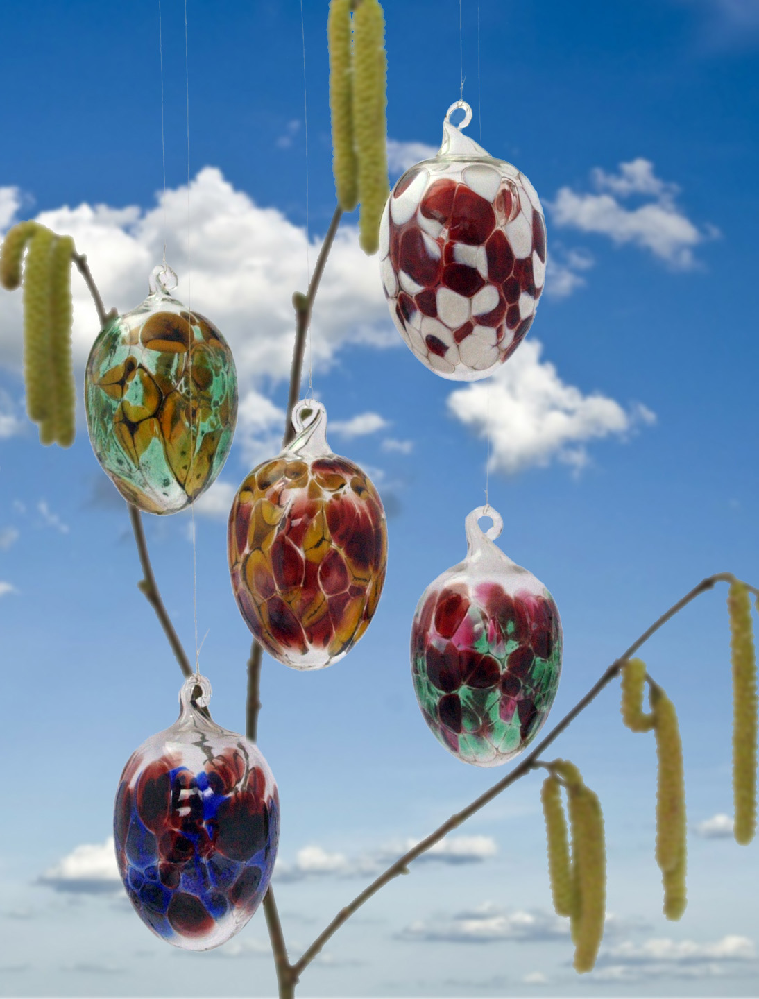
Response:
[[[318,845],[305,846],[296,854],[294,864],[278,862],[275,877],[279,881],[291,882],[320,876],[350,878],[378,874],[417,842],[416,839],[406,839],[388,843],[359,856],[331,853]],[[496,853],[495,840],[490,836],[446,836],[417,857],[414,863],[481,863]]]

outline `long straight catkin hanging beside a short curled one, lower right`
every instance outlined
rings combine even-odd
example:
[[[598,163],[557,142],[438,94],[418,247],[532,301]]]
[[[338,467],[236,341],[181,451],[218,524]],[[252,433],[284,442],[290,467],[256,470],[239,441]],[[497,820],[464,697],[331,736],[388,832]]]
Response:
[[[656,758],[656,863],[664,885],[664,913],[679,919],[685,909],[686,820],[682,742],[674,704],[660,687],[651,691]],[[675,876],[676,875],[676,876]],[[682,904],[667,894],[675,892]],[[679,911],[678,911],[679,910]],[[677,911],[677,915],[670,912]]]

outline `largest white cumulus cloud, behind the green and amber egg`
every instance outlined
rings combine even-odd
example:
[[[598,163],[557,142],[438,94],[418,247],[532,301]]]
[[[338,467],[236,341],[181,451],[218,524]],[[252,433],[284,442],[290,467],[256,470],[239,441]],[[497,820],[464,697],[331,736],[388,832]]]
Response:
[[[4,189],[7,191],[7,189]],[[10,206],[17,203],[6,195]],[[14,196],[15,197],[15,196]],[[8,216],[10,207],[5,211]],[[166,230],[164,229],[166,212]],[[134,309],[146,296],[148,276],[168,261],[180,276],[177,297],[189,303],[187,187],[161,193],[158,204],[63,206],[38,220],[74,237],[87,254],[107,307]],[[9,221],[9,220],[8,220]],[[321,242],[309,247],[312,263]],[[307,240],[302,227],[275,208],[262,208],[236,190],[215,167],[190,184],[192,306],[207,315],[229,341],[241,380],[241,397],[290,375],[295,317],[293,292],[307,283]],[[77,275],[74,292],[74,354],[81,369],[98,332],[92,301]],[[387,315],[377,260],[359,249],[358,231],[338,233],[312,323],[314,366],[325,370],[344,344],[395,347],[400,341]],[[20,368],[20,296],[0,295],[0,363]],[[79,377],[79,376],[78,376]],[[283,417],[284,419],[284,417]]]

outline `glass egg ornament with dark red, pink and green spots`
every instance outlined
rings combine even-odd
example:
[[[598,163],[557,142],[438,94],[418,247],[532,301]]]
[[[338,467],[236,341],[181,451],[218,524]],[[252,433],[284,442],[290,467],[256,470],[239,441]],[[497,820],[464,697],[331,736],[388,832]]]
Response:
[[[481,517],[493,521],[488,530]],[[411,676],[421,713],[465,763],[497,766],[540,730],[561,673],[561,621],[545,586],[492,542],[503,521],[479,506],[467,552],[421,594],[411,626]]]

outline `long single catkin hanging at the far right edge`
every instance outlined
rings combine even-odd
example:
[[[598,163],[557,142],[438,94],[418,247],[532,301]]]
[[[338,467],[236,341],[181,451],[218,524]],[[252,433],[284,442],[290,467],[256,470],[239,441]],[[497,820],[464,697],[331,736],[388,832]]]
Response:
[[[745,846],[756,829],[756,661],[751,603],[745,583],[732,582],[727,597],[733,668],[733,808],[736,842]]]

